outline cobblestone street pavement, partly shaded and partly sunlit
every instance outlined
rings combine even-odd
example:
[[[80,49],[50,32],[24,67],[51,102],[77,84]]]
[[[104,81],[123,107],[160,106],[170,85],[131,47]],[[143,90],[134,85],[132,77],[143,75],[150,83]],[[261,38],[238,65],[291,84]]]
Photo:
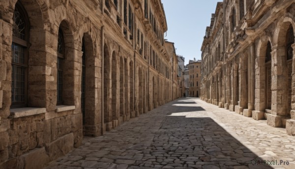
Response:
[[[84,138],[46,169],[127,168],[295,169],[295,137],[265,120],[185,98]]]

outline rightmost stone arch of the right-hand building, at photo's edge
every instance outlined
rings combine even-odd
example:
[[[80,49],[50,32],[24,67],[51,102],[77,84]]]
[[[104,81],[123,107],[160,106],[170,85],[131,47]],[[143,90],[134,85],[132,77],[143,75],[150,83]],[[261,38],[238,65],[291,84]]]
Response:
[[[273,69],[278,69],[280,71],[274,71],[273,79],[275,81],[274,89],[272,95],[277,96],[272,98],[271,109],[275,109],[276,112],[272,112],[279,116],[290,116],[290,110],[292,109],[292,72],[293,68],[293,47],[294,46],[294,21],[289,18],[281,18],[280,22],[277,24],[274,36],[274,44],[277,47],[273,50],[274,62],[271,63]],[[288,34],[289,32],[289,34]],[[290,39],[290,36],[293,39]],[[289,43],[288,43],[289,38]],[[291,58],[288,58],[288,52]]]

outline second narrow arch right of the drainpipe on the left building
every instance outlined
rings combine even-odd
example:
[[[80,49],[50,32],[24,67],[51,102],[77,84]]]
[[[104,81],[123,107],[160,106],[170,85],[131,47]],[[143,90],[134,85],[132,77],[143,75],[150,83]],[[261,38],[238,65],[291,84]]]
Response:
[[[112,54],[112,77],[111,77],[111,81],[112,81],[112,119],[113,120],[118,120],[119,118],[119,111],[118,111],[118,71],[117,71],[117,54],[115,51],[113,51]]]

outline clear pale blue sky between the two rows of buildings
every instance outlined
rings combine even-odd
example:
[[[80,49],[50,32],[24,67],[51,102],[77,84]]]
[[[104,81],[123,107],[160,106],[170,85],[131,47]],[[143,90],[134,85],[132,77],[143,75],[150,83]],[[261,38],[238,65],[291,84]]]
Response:
[[[189,60],[201,60],[201,45],[211,14],[222,0],[162,0],[168,31],[164,38],[174,42],[177,55]]]

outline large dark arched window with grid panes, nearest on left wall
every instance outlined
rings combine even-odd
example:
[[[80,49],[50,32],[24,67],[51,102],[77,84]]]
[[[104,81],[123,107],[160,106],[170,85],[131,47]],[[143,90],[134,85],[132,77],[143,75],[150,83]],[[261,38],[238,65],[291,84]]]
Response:
[[[29,20],[20,2],[15,5],[13,13],[11,45],[11,107],[27,106],[28,88],[28,46]]]

